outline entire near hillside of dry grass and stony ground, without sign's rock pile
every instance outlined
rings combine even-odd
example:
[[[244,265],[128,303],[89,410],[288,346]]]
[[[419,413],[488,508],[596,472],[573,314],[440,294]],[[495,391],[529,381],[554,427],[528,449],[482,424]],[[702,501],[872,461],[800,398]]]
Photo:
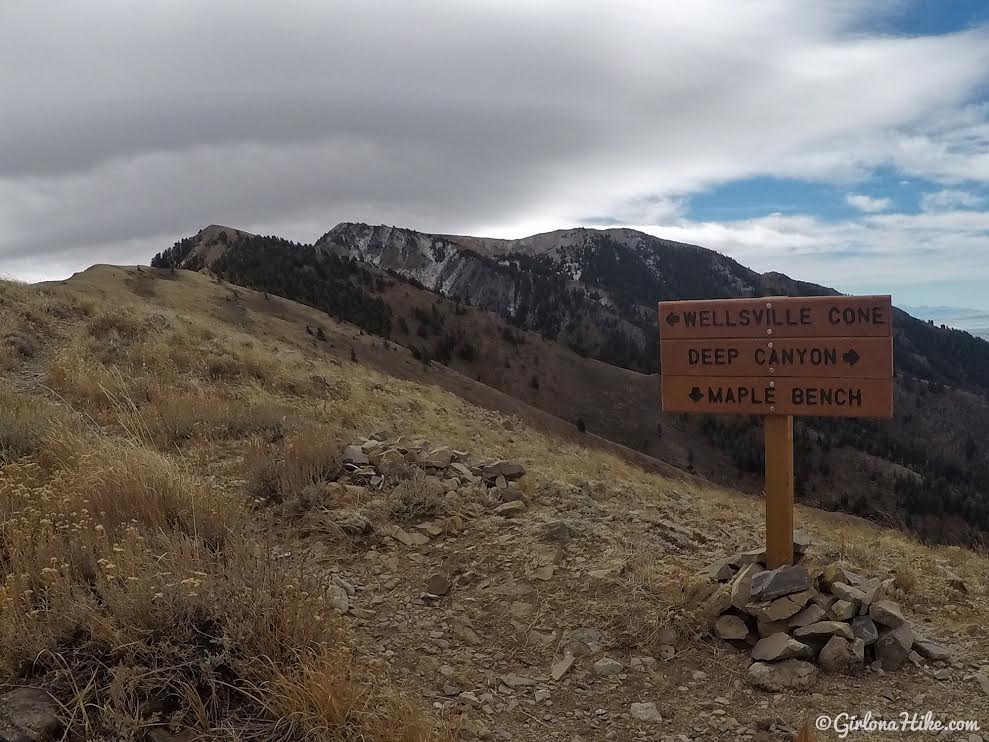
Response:
[[[758,498],[466,403],[431,383],[449,369],[384,373],[365,359],[423,367],[201,274],[102,266],[0,284],[0,305],[0,672],[52,694],[37,713],[66,739],[782,742],[921,696],[989,722],[975,552],[798,508],[812,564],[892,579],[953,654],[821,674],[779,704],[739,682],[748,647],[711,637],[697,577],[758,544]],[[371,477],[341,465],[349,443],[406,454]],[[526,473],[502,488],[421,463],[454,451]]]

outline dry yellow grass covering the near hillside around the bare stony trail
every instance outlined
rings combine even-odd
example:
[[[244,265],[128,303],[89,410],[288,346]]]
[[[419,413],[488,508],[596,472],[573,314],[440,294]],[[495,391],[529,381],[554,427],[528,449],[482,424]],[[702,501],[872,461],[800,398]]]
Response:
[[[51,689],[77,737],[137,740],[160,724],[211,739],[449,734],[328,609],[321,567],[285,556],[274,535],[286,509],[266,504],[305,512],[358,434],[521,461],[527,497],[537,482],[602,480],[630,507],[677,503],[726,553],[760,538],[756,498],[337,364],[277,312],[223,321],[223,288],[202,276],[145,276],[138,293],[127,280],[105,267],[67,286],[0,284],[0,672]],[[402,487],[385,503],[393,517],[436,505],[415,480]],[[806,508],[798,521],[823,556],[896,574],[911,610],[953,604],[942,622],[989,651],[986,632],[968,629],[989,616],[984,554]],[[569,610],[643,651],[666,628],[685,642],[701,633],[698,557],[609,548],[622,569]],[[948,568],[971,586],[966,600]]]

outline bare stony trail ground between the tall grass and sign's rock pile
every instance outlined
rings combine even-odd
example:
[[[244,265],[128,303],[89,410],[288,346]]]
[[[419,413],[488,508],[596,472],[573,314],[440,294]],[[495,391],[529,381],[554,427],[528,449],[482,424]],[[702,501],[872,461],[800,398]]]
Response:
[[[957,656],[932,644],[930,657],[915,651],[895,672],[881,661],[839,667],[824,652],[826,669],[801,662],[810,671],[795,681],[774,661],[813,655],[765,641],[755,653],[765,661],[751,663],[758,636],[715,623],[723,606],[705,567],[737,534],[680,525],[691,495],[642,502],[615,483],[535,484],[518,464],[383,433],[350,446],[347,459],[328,485],[341,506],[327,511],[346,545],[326,554],[324,542],[297,546],[332,562],[339,609],[465,739],[777,740],[829,709],[968,718],[966,698],[989,704],[986,658],[967,656],[964,637],[953,638]],[[758,550],[750,557],[735,561],[752,565],[742,567],[751,581],[762,567]],[[694,565],[697,579],[665,576],[663,562],[674,560]],[[881,603],[873,614],[899,610]]]

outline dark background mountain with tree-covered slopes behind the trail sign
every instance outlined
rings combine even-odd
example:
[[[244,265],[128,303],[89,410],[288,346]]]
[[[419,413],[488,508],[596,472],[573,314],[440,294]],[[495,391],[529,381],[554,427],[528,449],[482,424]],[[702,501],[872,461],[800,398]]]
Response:
[[[834,293],[631,230],[479,240],[345,224],[314,247],[267,237],[221,244],[217,230],[180,243],[178,264],[208,263],[227,280],[353,321],[575,426],[753,491],[758,420],[658,413],[655,377],[635,373],[658,355],[654,304],[641,302]],[[989,344],[899,311],[894,324],[897,417],[801,421],[799,495],[928,538],[978,542],[989,533],[989,402],[979,383],[989,378]]]

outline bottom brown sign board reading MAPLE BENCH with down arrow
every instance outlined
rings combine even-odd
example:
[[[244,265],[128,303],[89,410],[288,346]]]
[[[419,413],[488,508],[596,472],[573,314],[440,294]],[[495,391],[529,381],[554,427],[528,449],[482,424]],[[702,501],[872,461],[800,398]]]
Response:
[[[813,417],[890,417],[891,379],[666,376],[666,412]]]

